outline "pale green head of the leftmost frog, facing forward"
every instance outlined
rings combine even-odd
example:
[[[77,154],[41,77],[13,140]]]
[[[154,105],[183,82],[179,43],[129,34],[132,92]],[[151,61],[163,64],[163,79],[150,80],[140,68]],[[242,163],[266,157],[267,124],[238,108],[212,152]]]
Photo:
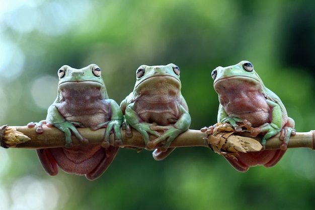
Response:
[[[58,70],[58,97],[62,98],[61,92],[64,90],[84,90],[95,88],[99,90],[104,99],[108,98],[106,87],[101,76],[101,68],[96,64],[76,69],[68,65],[63,65]]]

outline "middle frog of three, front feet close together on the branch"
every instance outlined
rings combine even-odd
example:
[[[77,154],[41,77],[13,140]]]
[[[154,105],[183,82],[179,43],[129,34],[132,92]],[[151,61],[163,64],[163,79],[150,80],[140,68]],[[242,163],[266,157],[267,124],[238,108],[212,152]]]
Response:
[[[140,65],[135,72],[133,91],[120,103],[125,124],[142,134],[146,150],[162,144],[152,153],[157,161],[175,149],[169,148],[172,141],[188,130],[191,123],[188,105],[181,93],[180,73],[180,68],[173,63]],[[150,141],[149,135],[157,138]]]

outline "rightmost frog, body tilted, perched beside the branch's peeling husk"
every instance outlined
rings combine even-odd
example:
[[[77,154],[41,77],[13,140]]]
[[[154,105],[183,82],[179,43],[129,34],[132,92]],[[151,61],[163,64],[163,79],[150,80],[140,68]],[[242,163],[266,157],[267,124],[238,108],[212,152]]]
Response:
[[[288,117],[280,98],[268,89],[250,61],[243,60],[227,67],[218,66],[211,72],[213,87],[218,94],[217,122],[227,122],[235,131],[250,130],[253,137],[262,135],[262,150],[240,153],[237,158],[225,157],[238,171],[277,164],[295,135],[294,120]],[[267,140],[280,133],[280,149],[265,150]]]

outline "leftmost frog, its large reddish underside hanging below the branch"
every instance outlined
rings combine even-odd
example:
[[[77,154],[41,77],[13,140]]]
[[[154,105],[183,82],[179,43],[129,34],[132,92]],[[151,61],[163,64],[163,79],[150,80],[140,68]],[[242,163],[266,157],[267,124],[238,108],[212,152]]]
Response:
[[[97,179],[107,170],[122,144],[122,111],[117,102],[109,99],[98,65],[90,64],[81,69],[63,65],[57,74],[58,94],[48,108],[46,120],[29,123],[29,127],[36,125],[36,132],[42,133],[42,125],[55,126],[64,132],[65,146],[38,149],[38,158],[51,176],[58,174],[59,166],[66,173]],[[102,144],[90,145],[78,127],[92,130],[106,127]],[[109,142],[111,133],[115,135],[114,146]],[[80,145],[73,145],[72,134]]]

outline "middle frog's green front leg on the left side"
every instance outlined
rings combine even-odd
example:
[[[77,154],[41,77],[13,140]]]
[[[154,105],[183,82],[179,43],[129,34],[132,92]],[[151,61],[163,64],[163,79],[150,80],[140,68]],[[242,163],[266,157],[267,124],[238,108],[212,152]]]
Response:
[[[147,147],[147,144],[150,142],[150,138],[149,138],[148,133],[150,133],[156,137],[159,137],[161,134],[155,130],[152,130],[151,129],[152,124],[144,122],[143,120],[141,120],[139,115],[132,108],[133,108],[133,103],[129,104],[126,107],[125,118],[131,127],[133,127],[139,133],[141,133],[141,135],[143,136],[143,139],[144,139],[146,149],[149,149]]]

